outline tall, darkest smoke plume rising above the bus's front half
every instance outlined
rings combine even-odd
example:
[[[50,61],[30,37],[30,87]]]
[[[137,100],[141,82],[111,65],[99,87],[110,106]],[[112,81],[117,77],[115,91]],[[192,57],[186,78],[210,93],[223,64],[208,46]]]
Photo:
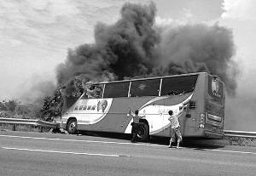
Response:
[[[153,69],[153,48],[160,39],[153,28],[155,11],[154,3],[126,3],[115,24],[98,23],[96,43],[69,50],[66,63],[57,68],[58,82],[74,76],[102,81],[148,74]]]

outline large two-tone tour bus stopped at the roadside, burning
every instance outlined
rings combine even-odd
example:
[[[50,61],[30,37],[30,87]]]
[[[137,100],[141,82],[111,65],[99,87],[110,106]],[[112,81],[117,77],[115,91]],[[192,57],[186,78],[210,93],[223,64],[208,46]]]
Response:
[[[62,113],[68,133],[78,130],[131,133],[139,110],[138,137],[170,136],[168,111],[178,116],[183,137],[224,137],[224,82],[206,72],[100,82]]]

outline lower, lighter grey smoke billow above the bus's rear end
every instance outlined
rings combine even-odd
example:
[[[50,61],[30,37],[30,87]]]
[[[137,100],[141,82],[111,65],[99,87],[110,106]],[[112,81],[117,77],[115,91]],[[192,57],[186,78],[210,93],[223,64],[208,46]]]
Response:
[[[232,31],[218,24],[177,26],[162,31],[156,65],[159,71],[164,71],[164,75],[206,71],[218,75],[230,95],[236,94],[239,69],[232,60]]]

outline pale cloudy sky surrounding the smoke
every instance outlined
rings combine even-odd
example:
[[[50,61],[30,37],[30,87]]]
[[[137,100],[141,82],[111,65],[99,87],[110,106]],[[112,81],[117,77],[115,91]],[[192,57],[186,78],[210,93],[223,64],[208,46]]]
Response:
[[[126,2],[146,0],[1,0],[0,99],[20,99],[37,82],[55,82],[68,48],[94,43],[98,21],[113,24]],[[156,25],[218,23],[233,31],[241,74],[236,98],[227,99],[228,124],[246,130],[256,119],[256,3],[253,0],[154,0]],[[241,106],[242,105],[242,106]],[[241,108],[241,111],[237,109]],[[244,116],[247,116],[246,118]],[[256,122],[256,121],[254,121]],[[233,128],[233,125],[227,125]],[[248,129],[251,130],[251,129]]]

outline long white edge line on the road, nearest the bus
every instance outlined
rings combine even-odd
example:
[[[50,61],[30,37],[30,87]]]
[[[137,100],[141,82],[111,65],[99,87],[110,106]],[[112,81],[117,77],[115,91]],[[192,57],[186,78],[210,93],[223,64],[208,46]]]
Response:
[[[0,135],[0,137],[9,137],[9,138],[20,138],[20,139],[45,139],[45,140],[62,140],[62,141],[73,141],[73,142],[87,142],[87,143],[101,143],[101,144],[116,144],[116,145],[144,145],[144,146],[158,146],[158,147],[166,147],[166,145],[152,145],[146,143],[127,143],[127,142],[111,142],[111,141],[99,141],[99,140],[79,140],[79,139],[58,139],[58,138],[37,138],[30,136],[13,136],[13,135]],[[184,147],[185,148],[185,147]],[[189,148],[196,149],[199,148]],[[218,149],[201,149],[200,150],[212,150],[212,151],[220,151],[220,152],[230,152],[230,153],[241,153],[241,154],[253,154],[256,155],[256,152],[250,151],[239,151],[239,150],[218,150]]]

